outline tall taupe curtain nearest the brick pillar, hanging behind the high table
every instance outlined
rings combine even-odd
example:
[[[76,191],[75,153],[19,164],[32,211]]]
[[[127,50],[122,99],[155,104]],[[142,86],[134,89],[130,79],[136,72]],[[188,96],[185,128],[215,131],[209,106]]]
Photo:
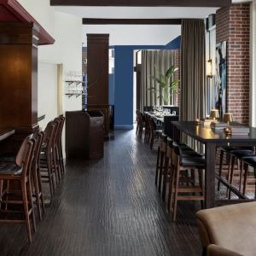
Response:
[[[182,21],[181,52],[181,120],[191,121],[205,116],[206,74],[205,74],[205,23],[204,20]],[[183,137],[195,150],[203,147],[193,139]]]

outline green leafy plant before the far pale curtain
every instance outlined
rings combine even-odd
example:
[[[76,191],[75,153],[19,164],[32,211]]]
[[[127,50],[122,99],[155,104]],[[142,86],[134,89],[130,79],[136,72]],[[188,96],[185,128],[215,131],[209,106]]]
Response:
[[[179,82],[178,79],[173,78],[173,74],[177,72],[177,67],[170,67],[166,70],[166,73],[161,73],[160,69],[156,68],[157,73],[159,74],[158,77],[156,76],[150,76],[150,79],[154,79],[154,81],[158,84],[160,84],[160,91],[161,96],[159,98],[162,98],[162,101],[164,102],[164,105],[169,105],[170,102],[170,96],[172,96],[173,92],[177,90],[177,84]],[[156,90],[155,87],[151,87],[148,90]]]

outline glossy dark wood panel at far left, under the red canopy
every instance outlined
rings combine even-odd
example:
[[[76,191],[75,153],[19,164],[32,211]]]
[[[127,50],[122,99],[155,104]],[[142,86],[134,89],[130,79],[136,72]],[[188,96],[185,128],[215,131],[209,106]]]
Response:
[[[32,25],[0,26],[0,127],[32,129],[38,119],[38,32]]]

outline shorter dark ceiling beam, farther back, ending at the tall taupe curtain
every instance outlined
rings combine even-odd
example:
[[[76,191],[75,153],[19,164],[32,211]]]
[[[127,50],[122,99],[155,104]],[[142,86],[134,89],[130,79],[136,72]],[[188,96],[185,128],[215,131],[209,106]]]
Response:
[[[84,25],[181,25],[181,19],[83,19]]]

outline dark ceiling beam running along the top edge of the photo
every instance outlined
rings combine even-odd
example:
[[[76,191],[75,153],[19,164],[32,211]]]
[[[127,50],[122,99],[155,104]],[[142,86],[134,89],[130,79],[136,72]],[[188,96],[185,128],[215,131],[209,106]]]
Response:
[[[228,7],[232,0],[50,0],[62,6],[172,6],[172,7]]]

